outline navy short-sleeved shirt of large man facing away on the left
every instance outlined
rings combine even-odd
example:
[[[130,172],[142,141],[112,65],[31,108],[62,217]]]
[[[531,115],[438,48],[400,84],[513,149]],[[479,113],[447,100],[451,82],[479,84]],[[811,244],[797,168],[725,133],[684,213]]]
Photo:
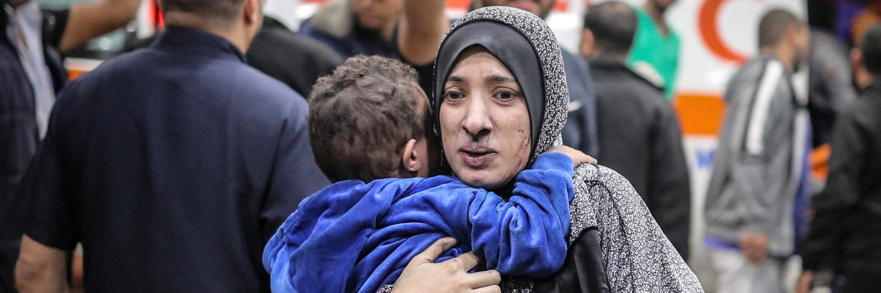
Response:
[[[263,246],[329,183],[306,117],[229,41],[168,28],[61,92],[19,189],[24,232],[81,242],[87,292],[268,291]]]

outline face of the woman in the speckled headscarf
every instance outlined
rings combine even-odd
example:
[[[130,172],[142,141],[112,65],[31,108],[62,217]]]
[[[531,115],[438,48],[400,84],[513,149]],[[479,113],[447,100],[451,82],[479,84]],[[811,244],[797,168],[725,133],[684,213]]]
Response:
[[[459,179],[492,189],[529,161],[529,111],[514,75],[484,48],[468,49],[443,85],[441,138]]]

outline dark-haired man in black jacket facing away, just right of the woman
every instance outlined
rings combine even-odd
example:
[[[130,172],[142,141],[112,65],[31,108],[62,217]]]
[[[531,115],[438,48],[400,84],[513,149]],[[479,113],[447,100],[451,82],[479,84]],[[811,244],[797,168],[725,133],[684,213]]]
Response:
[[[596,4],[584,27],[596,84],[596,159],[630,180],[687,260],[691,187],[682,133],[663,92],[626,66],[636,14],[626,4]]]

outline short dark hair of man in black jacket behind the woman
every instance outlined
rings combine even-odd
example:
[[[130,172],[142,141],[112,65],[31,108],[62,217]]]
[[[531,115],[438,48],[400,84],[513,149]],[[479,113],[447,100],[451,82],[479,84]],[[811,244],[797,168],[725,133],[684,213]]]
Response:
[[[636,34],[636,12],[617,1],[590,6],[584,28],[594,34],[594,43],[605,53],[627,55]]]

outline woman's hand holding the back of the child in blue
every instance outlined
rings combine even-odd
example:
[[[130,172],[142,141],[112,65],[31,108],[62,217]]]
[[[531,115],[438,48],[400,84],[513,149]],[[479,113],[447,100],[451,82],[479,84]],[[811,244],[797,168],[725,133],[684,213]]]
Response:
[[[474,253],[465,253],[455,259],[434,263],[441,253],[453,245],[455,238],[441,238],[428,246],[426,251],[419,253],[403,268],[392,292],[500,293],[501,275],[498,271],[468,273],[480,260]]]

